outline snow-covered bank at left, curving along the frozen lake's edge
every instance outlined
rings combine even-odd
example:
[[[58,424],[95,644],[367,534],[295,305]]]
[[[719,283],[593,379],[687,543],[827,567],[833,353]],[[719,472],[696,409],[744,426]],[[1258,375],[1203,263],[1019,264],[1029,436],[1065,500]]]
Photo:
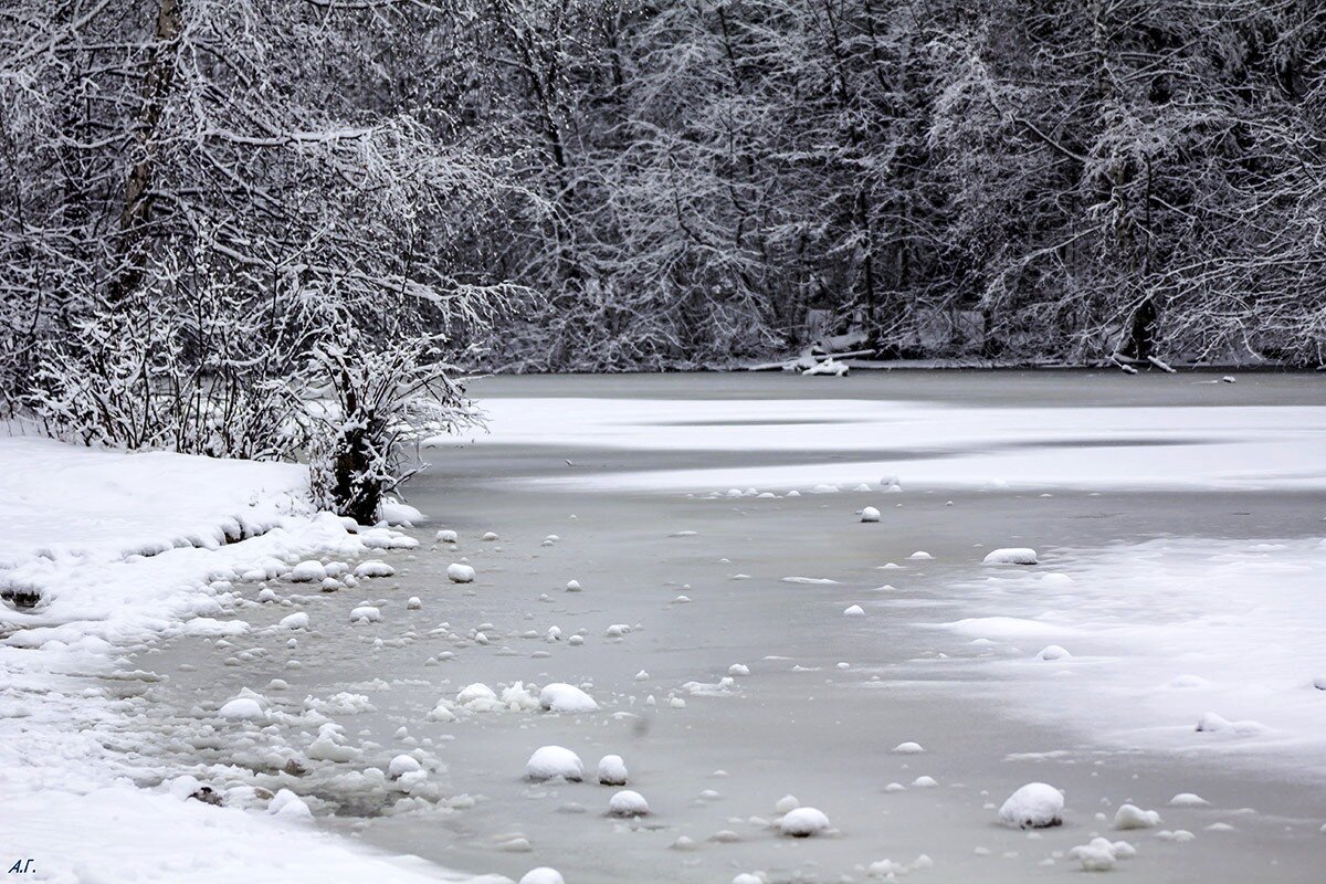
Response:
[[[472,880],[371,854],[308,823],[190,801],[172,771],[121,745],[135,687],[126,656],[219,620],[245,573],[310,555],[412,546],[305,502],[306,469],[0,439],[0,806],[7,856],[40,880]],[[127,685],[125,692],[115,685]],[[483,880],[483,879],[477,879]],[[503,880],[503,879],[492,879]]]

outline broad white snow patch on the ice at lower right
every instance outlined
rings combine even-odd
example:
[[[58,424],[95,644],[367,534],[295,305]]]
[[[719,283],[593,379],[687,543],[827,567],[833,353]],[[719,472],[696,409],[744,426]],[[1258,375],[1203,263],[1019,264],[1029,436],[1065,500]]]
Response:
[[[1166,538],[1055,558],[1062,580],[1001,569],[956,587],[975,616],[943,628],[1000,643],[972,661],[985,673],[972,691],[1128,749],[1326,769],[1313,688],[1326,656],[1306,616],[1326,573],[1319,538]]]

